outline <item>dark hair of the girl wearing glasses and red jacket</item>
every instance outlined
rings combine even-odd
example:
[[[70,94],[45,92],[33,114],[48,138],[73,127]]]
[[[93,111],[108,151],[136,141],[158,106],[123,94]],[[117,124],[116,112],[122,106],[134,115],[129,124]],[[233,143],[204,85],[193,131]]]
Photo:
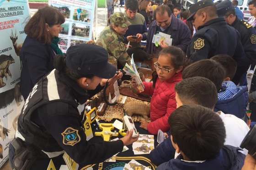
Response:
[[[170,60],[171,63],[173,64],[173,67],[175,69],[179,69],[180,66],[184,66],[185,65],[185,53],[178,47],[176,46],[168,46],[164,49],[162,49],[159,52],[159,56],[160,55],[168,55],[170,56]],[[157,79],[157,73],[156,71],[153,72],[152,74],[152,81],[153,81],[153,88],[155,88],[155,82]]]

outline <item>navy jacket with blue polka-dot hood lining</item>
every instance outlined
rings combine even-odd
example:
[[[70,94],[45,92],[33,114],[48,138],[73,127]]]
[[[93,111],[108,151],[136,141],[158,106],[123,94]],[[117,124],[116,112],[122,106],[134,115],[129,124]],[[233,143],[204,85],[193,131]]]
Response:
[[[221,110],[223,113],[233,114],[238,118],[245,116],[248,104],[248,92],[246,86],[235,86],[233,82],[222,83],[223,92],[218,93],[218,101],[214,112]]]

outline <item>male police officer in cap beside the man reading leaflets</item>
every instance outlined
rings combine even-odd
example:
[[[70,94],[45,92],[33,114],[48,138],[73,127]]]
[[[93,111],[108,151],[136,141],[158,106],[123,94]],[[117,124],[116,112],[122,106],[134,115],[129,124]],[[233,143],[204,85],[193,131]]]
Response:
[[[218,54],[228,54],[236,62],[244,57],[240,35],[233,27],[228,26],[224,18],[219,18],[212,0],[200,0],[189,8],[197,32],[187,50],[187,57],[192,61],[211,58]]]

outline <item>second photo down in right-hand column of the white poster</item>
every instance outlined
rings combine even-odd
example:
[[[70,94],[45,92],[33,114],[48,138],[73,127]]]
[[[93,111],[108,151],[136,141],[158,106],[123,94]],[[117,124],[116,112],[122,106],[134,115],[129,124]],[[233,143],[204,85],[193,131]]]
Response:
[[[72,36],[89,37],[90,26],[80,23],[72,24]]]

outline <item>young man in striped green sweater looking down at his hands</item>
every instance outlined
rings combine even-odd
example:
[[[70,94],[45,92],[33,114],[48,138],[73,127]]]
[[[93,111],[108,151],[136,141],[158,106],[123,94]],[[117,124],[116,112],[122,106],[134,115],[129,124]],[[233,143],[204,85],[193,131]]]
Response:
[[[131,48],[128,48],[127,53],[132,56],[135,62],[143,62],[149,60],[149,56],[140,46],[140,41],[145,41],[148,35],[146,21],[143,15],[139,14],[138,0],[126,0],[124,6],[124,14],[131,23],[124,35],[126,43],[130,42]]]

